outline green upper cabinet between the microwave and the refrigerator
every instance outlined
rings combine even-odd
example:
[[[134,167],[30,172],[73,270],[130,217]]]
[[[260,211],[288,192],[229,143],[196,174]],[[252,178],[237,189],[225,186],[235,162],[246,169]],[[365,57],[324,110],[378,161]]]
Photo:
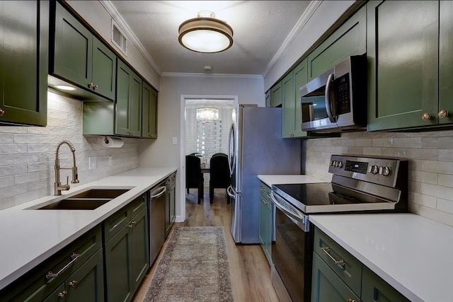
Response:
[[[302,131],[302,111],[299,88],[307,82],[306,59],[300,62],[282,80],[282,137],[301,138],[307,133]]]

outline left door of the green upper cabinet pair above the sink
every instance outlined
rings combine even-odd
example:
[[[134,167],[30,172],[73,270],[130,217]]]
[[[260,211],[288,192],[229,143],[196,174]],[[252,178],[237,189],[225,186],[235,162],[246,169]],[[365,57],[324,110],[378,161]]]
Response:
[[[53,73],[82,87],[91,83],[93,35],[56,3]]]

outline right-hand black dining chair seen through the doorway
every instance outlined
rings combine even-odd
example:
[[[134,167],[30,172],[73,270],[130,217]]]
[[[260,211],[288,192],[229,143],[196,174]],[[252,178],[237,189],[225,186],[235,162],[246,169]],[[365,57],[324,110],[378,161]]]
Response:
[[[228,156],[225,153],[215,153],[210,159],[210,203],[214,198],[214,189],[227,189],[230,185]],[[229,195],[226,194],[229,203]]]

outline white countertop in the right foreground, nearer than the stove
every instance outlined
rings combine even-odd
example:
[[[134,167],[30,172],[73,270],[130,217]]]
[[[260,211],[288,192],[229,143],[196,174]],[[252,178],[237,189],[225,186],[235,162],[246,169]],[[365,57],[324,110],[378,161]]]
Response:
[[[453,301],[451,226],[409,213],[309,220],[410,301]]]

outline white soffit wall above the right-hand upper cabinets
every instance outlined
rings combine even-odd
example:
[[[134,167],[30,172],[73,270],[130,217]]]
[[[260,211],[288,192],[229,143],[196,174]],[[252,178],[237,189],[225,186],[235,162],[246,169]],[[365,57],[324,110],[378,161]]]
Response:
[[[355,1],[321,1],[313,15],[306,21],[302,30],[294,37],[294,40],[287,46],[282,57],[275,62],[275,65],[264,75],[264,89],[275,84],[289,68],[302,57],[311,45],[323,35],[323,33],[340,18]]]

